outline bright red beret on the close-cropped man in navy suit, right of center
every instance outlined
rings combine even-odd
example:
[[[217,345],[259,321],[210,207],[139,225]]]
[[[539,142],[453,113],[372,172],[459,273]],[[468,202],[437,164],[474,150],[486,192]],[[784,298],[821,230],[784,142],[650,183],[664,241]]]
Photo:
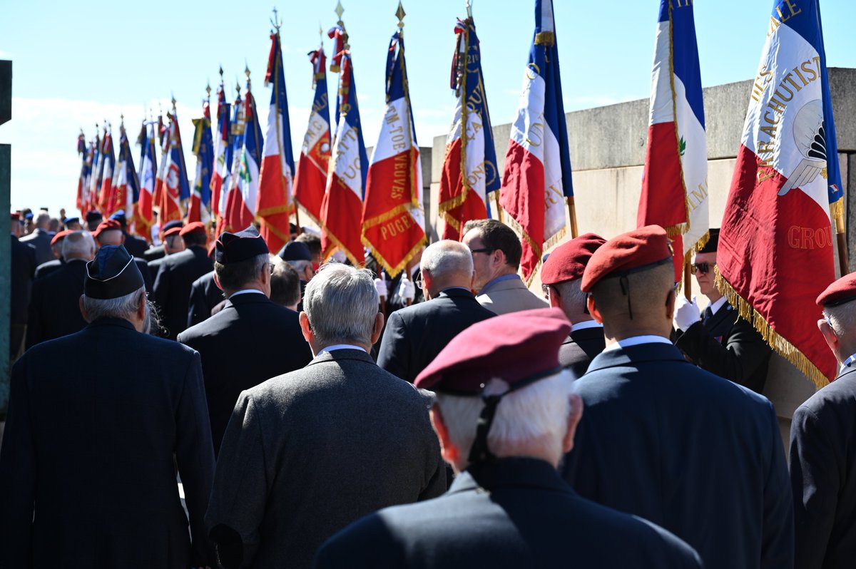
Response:
[[[626,276],[672,261],[672,246],[666,230],[646,225],[613,237],[589,259],[580,290],[591,291],[598,281],[609,276]]]

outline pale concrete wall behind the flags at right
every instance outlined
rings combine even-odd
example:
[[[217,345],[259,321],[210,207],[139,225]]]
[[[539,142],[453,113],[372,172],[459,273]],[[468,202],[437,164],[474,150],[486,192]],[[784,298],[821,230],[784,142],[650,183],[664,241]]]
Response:
[[[746,80],[704,89],[710,224],[713,227],[719,226],[728,198],[751,86],[752,81]],[[856,207],[853,207],[856,205],[856,69],[830,68],[829,86],[846,198],[847,241],[851,244],[849,263],[853,269],[856,268]],[[594,231],[609,238],[636,226],[647,144],[648,106],[648,99],[639,99],[565,116],[580,233]],[[510,130],[510,124],[493,127],[500,171]],[[426,218],[434,226],[434,235],[441,223],[437,219],[437,195],[445,144],[445,137],[434,139],[431,173],[437,182],[431,184],[431,199],[426,205]],[[853,188],[853,192],[848,192],[849,188]],[[532,288],[540,290],[537,278]],[[698,293],[694,282],[693,289]],[[700,300],[704,305],[706,299],[700,297]],[[774,356],[766,395],[776,404],[785,441],[794,409],[813,392],[814,385],[805,376],[786,360]]]

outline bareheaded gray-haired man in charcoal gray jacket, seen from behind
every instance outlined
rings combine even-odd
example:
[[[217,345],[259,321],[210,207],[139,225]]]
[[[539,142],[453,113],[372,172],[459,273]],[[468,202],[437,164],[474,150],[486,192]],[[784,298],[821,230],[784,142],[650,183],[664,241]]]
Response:
[[[370,271],[326,265],[300,313],[315,359],[241,393],[205,516],[221,566],[308,567],[355,519],[446,489],[430,401],[368,354],[377,305]]]

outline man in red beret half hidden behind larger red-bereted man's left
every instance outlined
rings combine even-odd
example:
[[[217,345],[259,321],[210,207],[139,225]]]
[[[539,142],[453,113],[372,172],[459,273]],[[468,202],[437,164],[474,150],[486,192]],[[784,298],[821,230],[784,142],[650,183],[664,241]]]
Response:
[[[550,306],[561,308],[571,323],[571,334],[559,349],[559,363],[577,377],[586,373],[591,359],[606,346],[603,324],[591,317],[586,306],[588,294],[580,290],[588,260],[605,242],[597,234],[580,235],[556,247],[541,269]]]

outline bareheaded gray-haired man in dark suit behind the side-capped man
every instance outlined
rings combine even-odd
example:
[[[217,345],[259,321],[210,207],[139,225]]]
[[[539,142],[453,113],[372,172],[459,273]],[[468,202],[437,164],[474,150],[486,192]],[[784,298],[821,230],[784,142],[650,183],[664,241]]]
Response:
[[[80,314],[80,295],[86,263],[95,257],[95,242],[86,231],[68,234],[62,243],[65,264],[33,282],[33,300],[27,323],[27,349],[43,341],[74,334],[86,326]]]

